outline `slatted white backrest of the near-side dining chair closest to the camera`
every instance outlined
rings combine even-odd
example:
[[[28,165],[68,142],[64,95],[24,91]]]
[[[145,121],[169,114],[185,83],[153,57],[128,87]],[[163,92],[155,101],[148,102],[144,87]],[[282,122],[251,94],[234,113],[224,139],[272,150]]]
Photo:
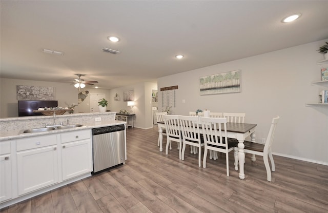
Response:
[[[200,117],[204,144],[228,148],[227,118],[204,118]],[[223,126],[223,133],[222,133]]]

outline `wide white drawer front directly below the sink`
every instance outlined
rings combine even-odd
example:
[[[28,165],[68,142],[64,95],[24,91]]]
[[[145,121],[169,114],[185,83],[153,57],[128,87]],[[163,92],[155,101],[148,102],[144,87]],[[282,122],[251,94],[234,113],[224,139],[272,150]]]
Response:
[[[21,140],[16,141],[17,151],[41,148],[41,147],[51,146],[51,145],[57,145],[56,134],[21,139]]]

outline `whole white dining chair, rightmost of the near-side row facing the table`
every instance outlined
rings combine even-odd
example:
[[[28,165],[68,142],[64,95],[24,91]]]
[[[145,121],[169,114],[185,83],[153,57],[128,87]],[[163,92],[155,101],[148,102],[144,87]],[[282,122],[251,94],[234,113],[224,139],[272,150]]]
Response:
[[[229,152],[234,150],[236,143],[230,143],[227,138],[227,118],[200,117],[204,140],[203,168],[206,168],[208,150],[226,153],[227,176],[229,176]]]

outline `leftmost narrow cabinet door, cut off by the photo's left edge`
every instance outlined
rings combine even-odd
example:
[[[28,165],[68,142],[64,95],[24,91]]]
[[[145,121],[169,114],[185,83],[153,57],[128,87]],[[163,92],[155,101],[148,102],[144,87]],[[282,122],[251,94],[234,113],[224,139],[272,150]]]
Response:
[[[0,156],[0,201],[12,197],[11,157],[10,154]]]

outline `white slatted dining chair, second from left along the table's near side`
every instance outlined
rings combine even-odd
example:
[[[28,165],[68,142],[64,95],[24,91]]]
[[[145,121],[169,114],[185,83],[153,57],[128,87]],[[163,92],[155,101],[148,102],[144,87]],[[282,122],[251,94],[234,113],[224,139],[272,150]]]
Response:
[[[182,150],[182,137],[181,129],[179,123],[179,115],[163,115],[165,129],[166,129],[166,150],[165,153],[169,152],[169,144],[172,141],[177,142],[179,149],[179,160],[181,160],[181,150]],[[172,147],[170,148],[172,149]]]

